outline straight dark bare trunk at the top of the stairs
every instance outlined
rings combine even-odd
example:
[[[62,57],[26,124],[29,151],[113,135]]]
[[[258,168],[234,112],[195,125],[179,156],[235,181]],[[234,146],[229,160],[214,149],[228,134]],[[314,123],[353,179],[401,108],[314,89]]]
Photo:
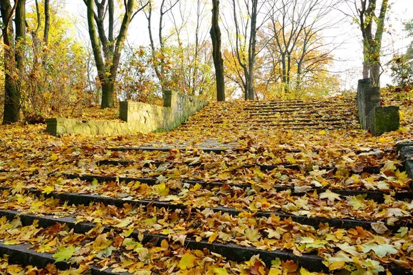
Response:
[[[222,59],[221,52],[221,30],[219,24],[220,0],[212,0],[212,4],[212,26],[210,34],[212,40],[213,64],[215,67],[217,100],[225,101],[224,60]]]

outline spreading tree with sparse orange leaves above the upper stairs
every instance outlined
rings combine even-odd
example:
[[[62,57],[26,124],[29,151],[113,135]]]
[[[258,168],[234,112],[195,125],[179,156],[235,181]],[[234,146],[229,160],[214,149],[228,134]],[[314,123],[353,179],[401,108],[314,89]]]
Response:
[[[279,59],[281,80],[286,93],[292,84],[295,68],[295,87],[299,89],[304,76],[324,69],[330,61],[332,50],[323,41],[325,30],[337,25],[340,19],[327,20],[337,1],[326,0],[279,0],[271,7],[271,24],[266,28],[268,52],[276,52]]]

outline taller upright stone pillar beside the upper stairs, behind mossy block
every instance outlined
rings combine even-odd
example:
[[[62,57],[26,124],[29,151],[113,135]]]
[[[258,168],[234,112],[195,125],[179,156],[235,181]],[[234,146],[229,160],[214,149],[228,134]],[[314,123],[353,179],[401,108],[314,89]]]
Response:
[[[374,107],[380,106],[380,87],[372,87],[370,78],[359,80],[357,104],[361,129],[368,129],[367,115]]]

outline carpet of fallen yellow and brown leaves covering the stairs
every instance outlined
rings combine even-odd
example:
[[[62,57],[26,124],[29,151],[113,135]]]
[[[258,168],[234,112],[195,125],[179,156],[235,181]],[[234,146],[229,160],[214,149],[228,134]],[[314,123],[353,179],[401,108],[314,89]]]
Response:
[[[1,126],[0,274],[409,274],[404,93],[379,137],[339,97],[212,103],[147,135]]]

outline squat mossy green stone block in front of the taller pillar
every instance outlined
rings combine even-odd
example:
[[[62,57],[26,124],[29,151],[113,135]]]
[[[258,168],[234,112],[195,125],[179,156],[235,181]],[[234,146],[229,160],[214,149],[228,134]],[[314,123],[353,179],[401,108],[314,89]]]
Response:
[[[400,126],[399,107],[374,107],[366,119],[368,130],[374,135],[396,131]]]

